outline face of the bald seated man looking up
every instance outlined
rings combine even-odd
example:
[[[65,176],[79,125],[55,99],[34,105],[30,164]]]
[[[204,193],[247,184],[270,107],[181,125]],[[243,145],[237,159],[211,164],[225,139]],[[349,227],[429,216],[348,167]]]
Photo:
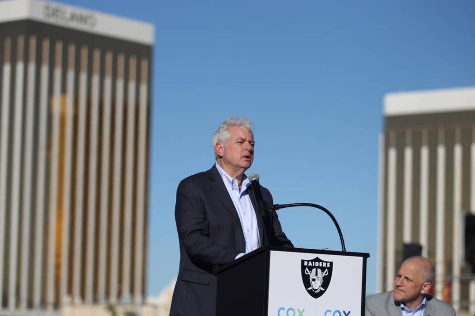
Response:
[[[422,298],[430,288],[429,282],[422,282],[422,274],[423,264],[417,260],[404,261],[394,281],[394,299],[406,304]]]

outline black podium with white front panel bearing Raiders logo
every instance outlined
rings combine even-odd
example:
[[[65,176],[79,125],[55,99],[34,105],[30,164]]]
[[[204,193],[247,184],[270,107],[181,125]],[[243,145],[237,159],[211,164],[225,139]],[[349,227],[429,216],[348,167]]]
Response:
[[[217,316],[364,316],[367,253],[261,247],[217,271]]]

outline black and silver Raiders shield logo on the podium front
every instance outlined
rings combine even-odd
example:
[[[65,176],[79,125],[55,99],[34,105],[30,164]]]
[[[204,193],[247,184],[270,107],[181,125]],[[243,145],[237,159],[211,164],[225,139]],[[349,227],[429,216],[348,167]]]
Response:
[[[325,294],[332,280],[333,262],[324,261],[319,257],[302,260],[301,266],[303,286],[314,299]]]

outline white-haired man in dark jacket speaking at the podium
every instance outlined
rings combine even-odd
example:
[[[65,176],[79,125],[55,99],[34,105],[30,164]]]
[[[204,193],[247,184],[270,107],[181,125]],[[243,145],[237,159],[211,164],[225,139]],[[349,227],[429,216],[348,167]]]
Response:
[[[213,266],[229,263],[262,245],[292,247],[277,215],[268,240],[244,174],[254,158],[253,123],[243,117],[224,120],[212,141],[216,164],[182,180],[176,192],[180,268],[171,316],[216,314]],[[273,204],[269,190],[260,189],[263,200]]]

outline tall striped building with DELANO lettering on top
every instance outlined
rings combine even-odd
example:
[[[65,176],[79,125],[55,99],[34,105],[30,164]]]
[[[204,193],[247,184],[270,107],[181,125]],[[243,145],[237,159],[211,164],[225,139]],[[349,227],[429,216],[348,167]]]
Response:
[[[153,43],[148,23],[0,1],[0,315],[143,303]]]

